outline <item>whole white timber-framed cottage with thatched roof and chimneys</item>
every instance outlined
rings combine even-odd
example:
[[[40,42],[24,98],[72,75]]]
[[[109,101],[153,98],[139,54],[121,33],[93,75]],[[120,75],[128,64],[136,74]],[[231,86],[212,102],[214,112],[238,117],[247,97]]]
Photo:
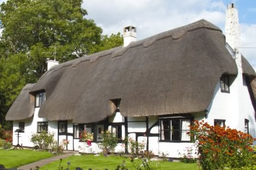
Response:
[[[256,74],[237,49],[234,4],[226,11],[226,39],[206,20],[139,41],[136,28],[125,27],[123,37],[123,47],[59,65],[48,61],[48,71],[22,89],[6,115],[13,131],[23,131],[20,144],[32,146],[32,133],[48,131],[79,151],[79,133],[89,131],[88,152],[98,153],[102,131],[110,130],[120,138],[116,152],[128,151],[121,141],[129,137],[156,155],[179,157],[193,146],[187,135],[193,120],[256,138]]]

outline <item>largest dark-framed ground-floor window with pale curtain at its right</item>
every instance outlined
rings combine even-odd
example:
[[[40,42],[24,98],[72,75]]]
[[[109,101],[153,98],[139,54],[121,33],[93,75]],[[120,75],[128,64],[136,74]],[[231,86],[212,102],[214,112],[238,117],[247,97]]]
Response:
[[[190,123],[188,118],[160,119],[160,141],[190,141]]]

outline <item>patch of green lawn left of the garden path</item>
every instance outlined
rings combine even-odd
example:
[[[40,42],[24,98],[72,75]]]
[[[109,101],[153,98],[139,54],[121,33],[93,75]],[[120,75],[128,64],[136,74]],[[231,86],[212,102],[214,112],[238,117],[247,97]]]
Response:
[[[25,164],[30,164],[41,159],[46,159],[53,154],[45,151],[32,151],[30,149],[13,150],[13,149],[0,149],[0,164],[5,168],[19,167]]]

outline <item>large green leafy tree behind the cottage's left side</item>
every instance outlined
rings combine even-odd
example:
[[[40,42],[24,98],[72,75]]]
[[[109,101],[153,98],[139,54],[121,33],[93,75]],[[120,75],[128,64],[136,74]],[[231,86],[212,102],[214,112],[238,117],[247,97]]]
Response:
[[[102,35],[82,0],[7,0],[1,4],[0,116],[22,87],[46,71],[46,60],[59,62],[123,44],[123,37]],[[1,123],[1,122],[0,122]]]

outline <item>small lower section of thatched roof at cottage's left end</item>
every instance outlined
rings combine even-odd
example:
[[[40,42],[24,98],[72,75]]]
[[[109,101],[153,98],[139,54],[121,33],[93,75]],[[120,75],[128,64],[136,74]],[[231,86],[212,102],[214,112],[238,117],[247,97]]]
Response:
[[[35,84],[27,84],[12,104],[6,114],[6,121],[16,121],[30,118],[34,114],[35,98],[30,95],[30,90]]]

